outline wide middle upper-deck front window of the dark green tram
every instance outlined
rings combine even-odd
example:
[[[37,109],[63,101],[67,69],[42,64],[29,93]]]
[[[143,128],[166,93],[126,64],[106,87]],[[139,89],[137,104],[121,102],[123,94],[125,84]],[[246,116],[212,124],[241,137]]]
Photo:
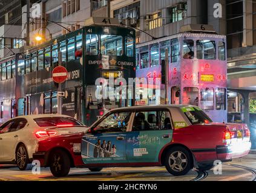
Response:
[[[100,36],[100,50],[102,55],[123,55],[122,36]]]

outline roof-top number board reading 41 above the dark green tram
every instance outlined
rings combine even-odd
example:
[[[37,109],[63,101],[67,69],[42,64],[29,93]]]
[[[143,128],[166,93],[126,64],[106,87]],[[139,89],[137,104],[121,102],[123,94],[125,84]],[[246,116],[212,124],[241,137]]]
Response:
[[[119,25],[119,20],[117,18],[108,17],[90,17],[85,20],[85,26],[90,25]]]

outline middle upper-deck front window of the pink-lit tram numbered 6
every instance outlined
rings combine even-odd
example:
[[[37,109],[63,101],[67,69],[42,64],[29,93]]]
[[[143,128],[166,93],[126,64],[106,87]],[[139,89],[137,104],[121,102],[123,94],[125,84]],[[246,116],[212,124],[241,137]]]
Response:
[[[197,59],[215,60],[216,46],[212,40],[197,40]]]

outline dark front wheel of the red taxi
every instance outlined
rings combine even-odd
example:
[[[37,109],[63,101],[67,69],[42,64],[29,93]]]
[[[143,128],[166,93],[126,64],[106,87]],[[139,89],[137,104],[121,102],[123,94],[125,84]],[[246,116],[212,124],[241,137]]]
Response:
[[[54,150],[50,155],[50,170],[55,177],[65,177],[70,172],[70,157],[65,151]]]

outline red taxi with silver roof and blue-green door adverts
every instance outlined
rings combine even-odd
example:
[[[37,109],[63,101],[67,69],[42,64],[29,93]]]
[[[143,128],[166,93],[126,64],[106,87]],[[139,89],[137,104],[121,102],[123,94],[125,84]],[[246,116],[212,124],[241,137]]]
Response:
[[[165,166],[174,176],[211,169],[251,149],[246,124],[214,123],[197,106],[138,106],[111,110],[88,131],[38,142],[33,159],[56,177],[70,168]]]

